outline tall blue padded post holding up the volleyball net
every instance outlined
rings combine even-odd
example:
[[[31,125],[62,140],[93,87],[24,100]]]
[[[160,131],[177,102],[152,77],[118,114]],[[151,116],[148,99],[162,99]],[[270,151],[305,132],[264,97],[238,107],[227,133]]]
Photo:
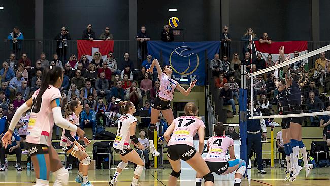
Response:
[[[248,164],[247,157],[247,88],[246,88],[246,66],[241,65],[241,88],[240,88],[240,159]],[[245,103],[244,103],[245,102]],[[247,170],[244,177],[247,177]]]

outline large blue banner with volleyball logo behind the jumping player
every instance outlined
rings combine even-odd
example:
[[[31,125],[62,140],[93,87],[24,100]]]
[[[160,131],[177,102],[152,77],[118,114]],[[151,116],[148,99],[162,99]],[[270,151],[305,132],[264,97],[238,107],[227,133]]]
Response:
[[[148,41],[148,54],[160,60],[163,65],[173,69],[172,78],[180,84],[190,84],[197,79],[196,85],[205,85],[205,57],[213,58],[219,52],[220,41],[163,42]],[[205,56],[207,54],[207,56]]]

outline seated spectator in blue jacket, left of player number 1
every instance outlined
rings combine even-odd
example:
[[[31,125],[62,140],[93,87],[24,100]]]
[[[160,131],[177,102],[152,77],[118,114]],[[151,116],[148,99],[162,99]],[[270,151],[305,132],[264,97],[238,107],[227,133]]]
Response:
[[[79,127],[82,130],[84,130],[84,128],[92,128],[93,139],[95,139],[96,115],[93,110],[90,110],[90,106],[88,104],[84,105],[84,110],[81,112]]]

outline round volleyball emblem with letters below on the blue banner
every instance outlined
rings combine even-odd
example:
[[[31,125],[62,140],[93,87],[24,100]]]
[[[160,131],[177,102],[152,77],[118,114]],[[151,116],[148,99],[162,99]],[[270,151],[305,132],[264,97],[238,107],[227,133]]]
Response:
[[[192,48],[188,46],[180,46],[174,49],[170,54],[170,66],[172,67],[173,71],[181,75],[181,77],[175,77],[173,75],[173,79],[185,79],[188,78],[188,75],[191,81],[196,79],[196,75],[191,75],[194,73],[200,64],[200,59],[197,53],[192,51]],[[183,63],[176,63],[174,65],[173,61],[183,61]],[[180,65],[180,66],[179,66]]]

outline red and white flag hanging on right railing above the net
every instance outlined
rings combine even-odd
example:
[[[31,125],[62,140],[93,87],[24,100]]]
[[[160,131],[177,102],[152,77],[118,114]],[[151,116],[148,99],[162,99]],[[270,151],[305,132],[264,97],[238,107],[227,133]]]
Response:
[[[262,54],[262,58],[267,60],[267,55],[271,54],[273,56],[273,61],[277,61],[279,55],[280,46],[285,48],[285,56],[290,55],[290,59],[293,58],[293,52],[298,51],[299,56],[307,53],[307,41],[280,41],[272,42],[272,44],[259,43],[259,41],[254,41],[256,52]],[[307,58],[302,61],[302,64],[307,63]]]

